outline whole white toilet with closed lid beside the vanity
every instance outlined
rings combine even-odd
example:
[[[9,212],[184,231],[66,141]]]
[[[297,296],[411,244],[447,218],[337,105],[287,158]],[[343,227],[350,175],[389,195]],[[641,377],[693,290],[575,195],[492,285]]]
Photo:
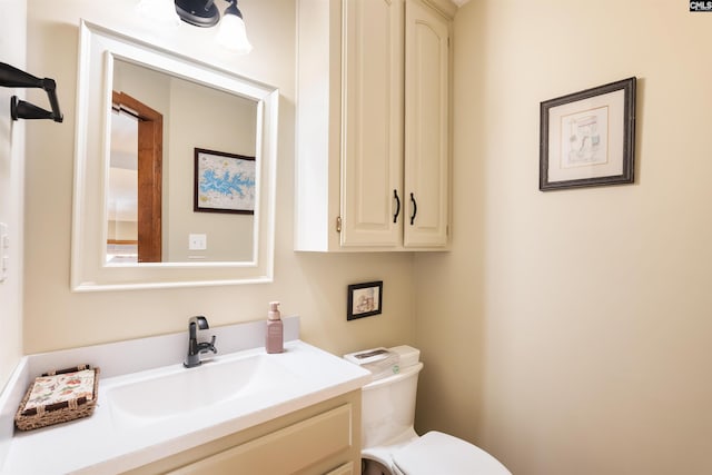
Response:
[[[376,359],[363,365],[374,374],[362,393],[364,475],[512,475],[473,444],[436,431],[416,434],[415,397],[423,368],[418,349],[404,345],[345,357],[357,364]]]

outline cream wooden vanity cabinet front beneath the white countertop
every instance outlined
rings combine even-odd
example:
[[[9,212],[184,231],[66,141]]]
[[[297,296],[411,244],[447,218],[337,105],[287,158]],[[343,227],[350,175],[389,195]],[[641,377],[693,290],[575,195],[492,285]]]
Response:
[[[359,469],[356,390],[129,473],[349,475]]]

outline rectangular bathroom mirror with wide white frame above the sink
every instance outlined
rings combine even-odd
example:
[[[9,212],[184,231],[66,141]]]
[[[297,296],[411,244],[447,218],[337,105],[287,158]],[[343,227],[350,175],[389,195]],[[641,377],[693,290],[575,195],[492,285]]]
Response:
[[[72,289],[271,281],[274,87],[82,21]]]

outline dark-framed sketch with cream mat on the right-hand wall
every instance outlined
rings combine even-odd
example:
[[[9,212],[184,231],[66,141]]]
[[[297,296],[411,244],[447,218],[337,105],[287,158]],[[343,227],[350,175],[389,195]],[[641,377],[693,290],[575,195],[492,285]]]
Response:
[[[635,78],[541,103],[540,190],[632,184]]]

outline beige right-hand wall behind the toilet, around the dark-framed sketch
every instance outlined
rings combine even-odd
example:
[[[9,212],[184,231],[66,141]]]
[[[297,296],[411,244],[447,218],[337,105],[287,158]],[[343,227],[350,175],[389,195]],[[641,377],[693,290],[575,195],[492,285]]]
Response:
[[[454,249],[415,266],[419,428],[516,475],[712,473],[712,17],[686,10],[458,12]],[[540,102],[631,76],[635,185],[538,191]]]

